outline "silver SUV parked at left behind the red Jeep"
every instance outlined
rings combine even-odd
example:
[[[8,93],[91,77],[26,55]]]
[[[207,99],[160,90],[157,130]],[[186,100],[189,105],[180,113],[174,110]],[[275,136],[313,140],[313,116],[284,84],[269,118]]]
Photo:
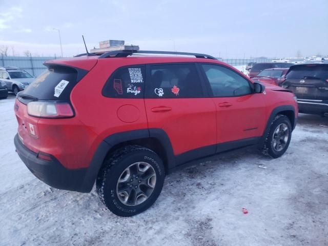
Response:
[[[15,95],[23,91],[34,80],[34,77],[25,70],[16,67],[0,67],[0,81],[4,81],[7,89]]]

